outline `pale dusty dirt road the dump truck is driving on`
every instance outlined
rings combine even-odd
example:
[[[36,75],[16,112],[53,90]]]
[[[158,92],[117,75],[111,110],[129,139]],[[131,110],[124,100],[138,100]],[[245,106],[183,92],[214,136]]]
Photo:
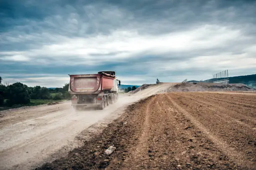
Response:
[[[75,112],[70,102],[64,102],[1,111],[0,169],[30,169],[66,155],[83,144],[85,133],[102,129],[102,124],[120,116],[127,105],[172,85],[175,83],[150,87],[133,96],[120,95],[118,102],[104,110]]]

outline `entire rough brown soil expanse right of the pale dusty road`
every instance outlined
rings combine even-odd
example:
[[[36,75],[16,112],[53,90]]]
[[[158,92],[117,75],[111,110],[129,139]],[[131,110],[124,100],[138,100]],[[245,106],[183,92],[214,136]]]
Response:
[[[116,150],[104,155],[110,145]],[[130,105],[53,169],[256,169],[256,95],[159,94]]]

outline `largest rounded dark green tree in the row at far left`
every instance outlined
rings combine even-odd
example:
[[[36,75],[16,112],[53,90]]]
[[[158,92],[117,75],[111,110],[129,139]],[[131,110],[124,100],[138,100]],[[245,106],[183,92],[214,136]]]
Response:
[[[12,85],[8,85],[8,105],[16,104],[28,104],[30,102],[30,96],[28,94],[28,86],[20,82],[15,82]]]

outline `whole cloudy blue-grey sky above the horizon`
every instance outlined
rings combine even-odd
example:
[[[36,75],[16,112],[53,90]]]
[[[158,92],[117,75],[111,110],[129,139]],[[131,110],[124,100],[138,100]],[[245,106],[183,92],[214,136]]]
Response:
[[[122,84],[256,73],[255,0],[0,0],[3,82],[61,87],[115,70]]]

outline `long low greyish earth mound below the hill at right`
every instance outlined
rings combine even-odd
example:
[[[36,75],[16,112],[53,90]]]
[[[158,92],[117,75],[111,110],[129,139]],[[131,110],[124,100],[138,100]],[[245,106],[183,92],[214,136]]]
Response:
[[[193,92],[193,91],[256,91],[245,84],[223,83],[180,83],[166,90],[167,92]]]

